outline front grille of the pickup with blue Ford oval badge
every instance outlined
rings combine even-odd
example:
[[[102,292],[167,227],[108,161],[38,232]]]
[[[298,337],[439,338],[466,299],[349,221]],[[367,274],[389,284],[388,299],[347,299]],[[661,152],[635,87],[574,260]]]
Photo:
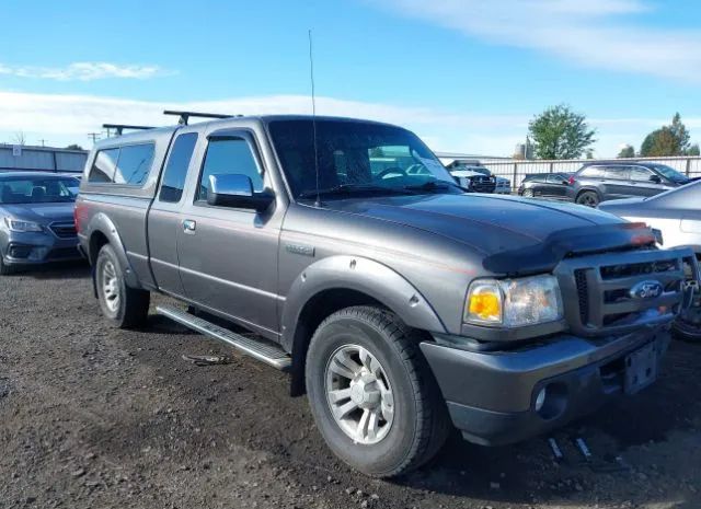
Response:
[[[602,336],[671,321],[682,300],[687,255],[683,248],[639,250],[562,261],[555,275],[571,328]]]

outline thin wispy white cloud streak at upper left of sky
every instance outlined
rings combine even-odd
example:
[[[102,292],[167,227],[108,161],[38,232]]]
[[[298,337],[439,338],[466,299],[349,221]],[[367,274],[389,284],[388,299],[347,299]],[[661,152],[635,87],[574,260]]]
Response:
[[[73,62],[66,67],[12,67],[0,63],[0,74],[57,81],[93,81],[107,78],[142,80],[172,73],[173,71],[158,66],[119,66],[110,62]]]

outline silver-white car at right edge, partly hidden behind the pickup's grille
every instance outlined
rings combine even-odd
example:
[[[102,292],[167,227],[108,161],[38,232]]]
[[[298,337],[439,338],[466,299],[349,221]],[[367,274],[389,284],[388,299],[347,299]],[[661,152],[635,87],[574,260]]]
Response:
[[[689,246],[701,261],[701,182],[648,198],[605,201],[599,209],[632,222],[645,222],[659,235],[663,247]],[[701,340],[701,294],[697,289],[691,310],[678,321],[677,333]]]

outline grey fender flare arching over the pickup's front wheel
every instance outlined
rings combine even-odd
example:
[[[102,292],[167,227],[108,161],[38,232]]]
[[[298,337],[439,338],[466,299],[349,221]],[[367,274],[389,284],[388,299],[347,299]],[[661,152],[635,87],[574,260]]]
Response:
[[[307,267],[292,282],[283,309],[283,347],[292,351],[304,305],[325,290],[365,293],[393,311],[409,326],[432,332],[446,328],[421,292],[390,267],[360,256],[330,256]]]

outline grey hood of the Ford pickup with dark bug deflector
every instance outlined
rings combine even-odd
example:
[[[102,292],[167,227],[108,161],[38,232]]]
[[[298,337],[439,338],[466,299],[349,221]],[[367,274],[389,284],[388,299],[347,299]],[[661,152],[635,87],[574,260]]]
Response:
[[[324,205],[452,239],[482,253],[485,268],[496,273],[548,270],[567,253],[641,243],[640,232],[605,234],[630,229],[630,223],[616,216],[573,204],[510,196],[422,195]]]

